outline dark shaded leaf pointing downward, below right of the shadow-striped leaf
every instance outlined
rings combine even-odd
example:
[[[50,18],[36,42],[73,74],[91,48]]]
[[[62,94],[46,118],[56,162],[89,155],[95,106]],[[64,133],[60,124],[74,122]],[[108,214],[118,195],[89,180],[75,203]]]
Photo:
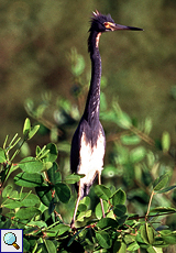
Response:
[[[50,186],[35,187],[35,191],[41,199],[41,201],[48,207],[52,201],[52,191]]]

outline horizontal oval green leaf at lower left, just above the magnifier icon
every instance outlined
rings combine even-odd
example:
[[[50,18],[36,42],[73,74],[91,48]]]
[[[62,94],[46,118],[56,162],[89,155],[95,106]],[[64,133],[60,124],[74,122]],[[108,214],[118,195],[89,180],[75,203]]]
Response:
[[[26,208],[20,208],[16,213],[15,218],[21,220],[32,219],[33,217],[36,217],[41,215],[41,211],[35,207],[26,207]]]

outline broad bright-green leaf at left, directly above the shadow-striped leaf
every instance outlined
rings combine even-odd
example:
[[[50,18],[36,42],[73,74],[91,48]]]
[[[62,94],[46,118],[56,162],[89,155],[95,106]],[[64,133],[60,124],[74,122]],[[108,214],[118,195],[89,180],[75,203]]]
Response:
[[[41,161],[29,156],[19,163],[19,167],[25,173],[34,174],[42,172],[44,164]]]

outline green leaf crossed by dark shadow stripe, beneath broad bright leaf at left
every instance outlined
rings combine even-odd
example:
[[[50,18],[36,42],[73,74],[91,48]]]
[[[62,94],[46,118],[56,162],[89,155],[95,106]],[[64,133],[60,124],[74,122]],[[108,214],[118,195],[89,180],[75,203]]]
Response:
[[[14,177],[14,183],[24,187],[36,187],[43,183],[43,177],[40,174],[19,173]]]

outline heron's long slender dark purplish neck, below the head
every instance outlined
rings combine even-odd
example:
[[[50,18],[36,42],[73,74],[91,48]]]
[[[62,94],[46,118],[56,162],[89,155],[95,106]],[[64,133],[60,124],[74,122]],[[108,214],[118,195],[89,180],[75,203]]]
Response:
[[[91,59],[91,80],[84,112],[84,119],[91,125],[99,121],[100,107],[100,79],[101,79],[101,57],[98,48],[101,33],[90,32],[88,46]]]

